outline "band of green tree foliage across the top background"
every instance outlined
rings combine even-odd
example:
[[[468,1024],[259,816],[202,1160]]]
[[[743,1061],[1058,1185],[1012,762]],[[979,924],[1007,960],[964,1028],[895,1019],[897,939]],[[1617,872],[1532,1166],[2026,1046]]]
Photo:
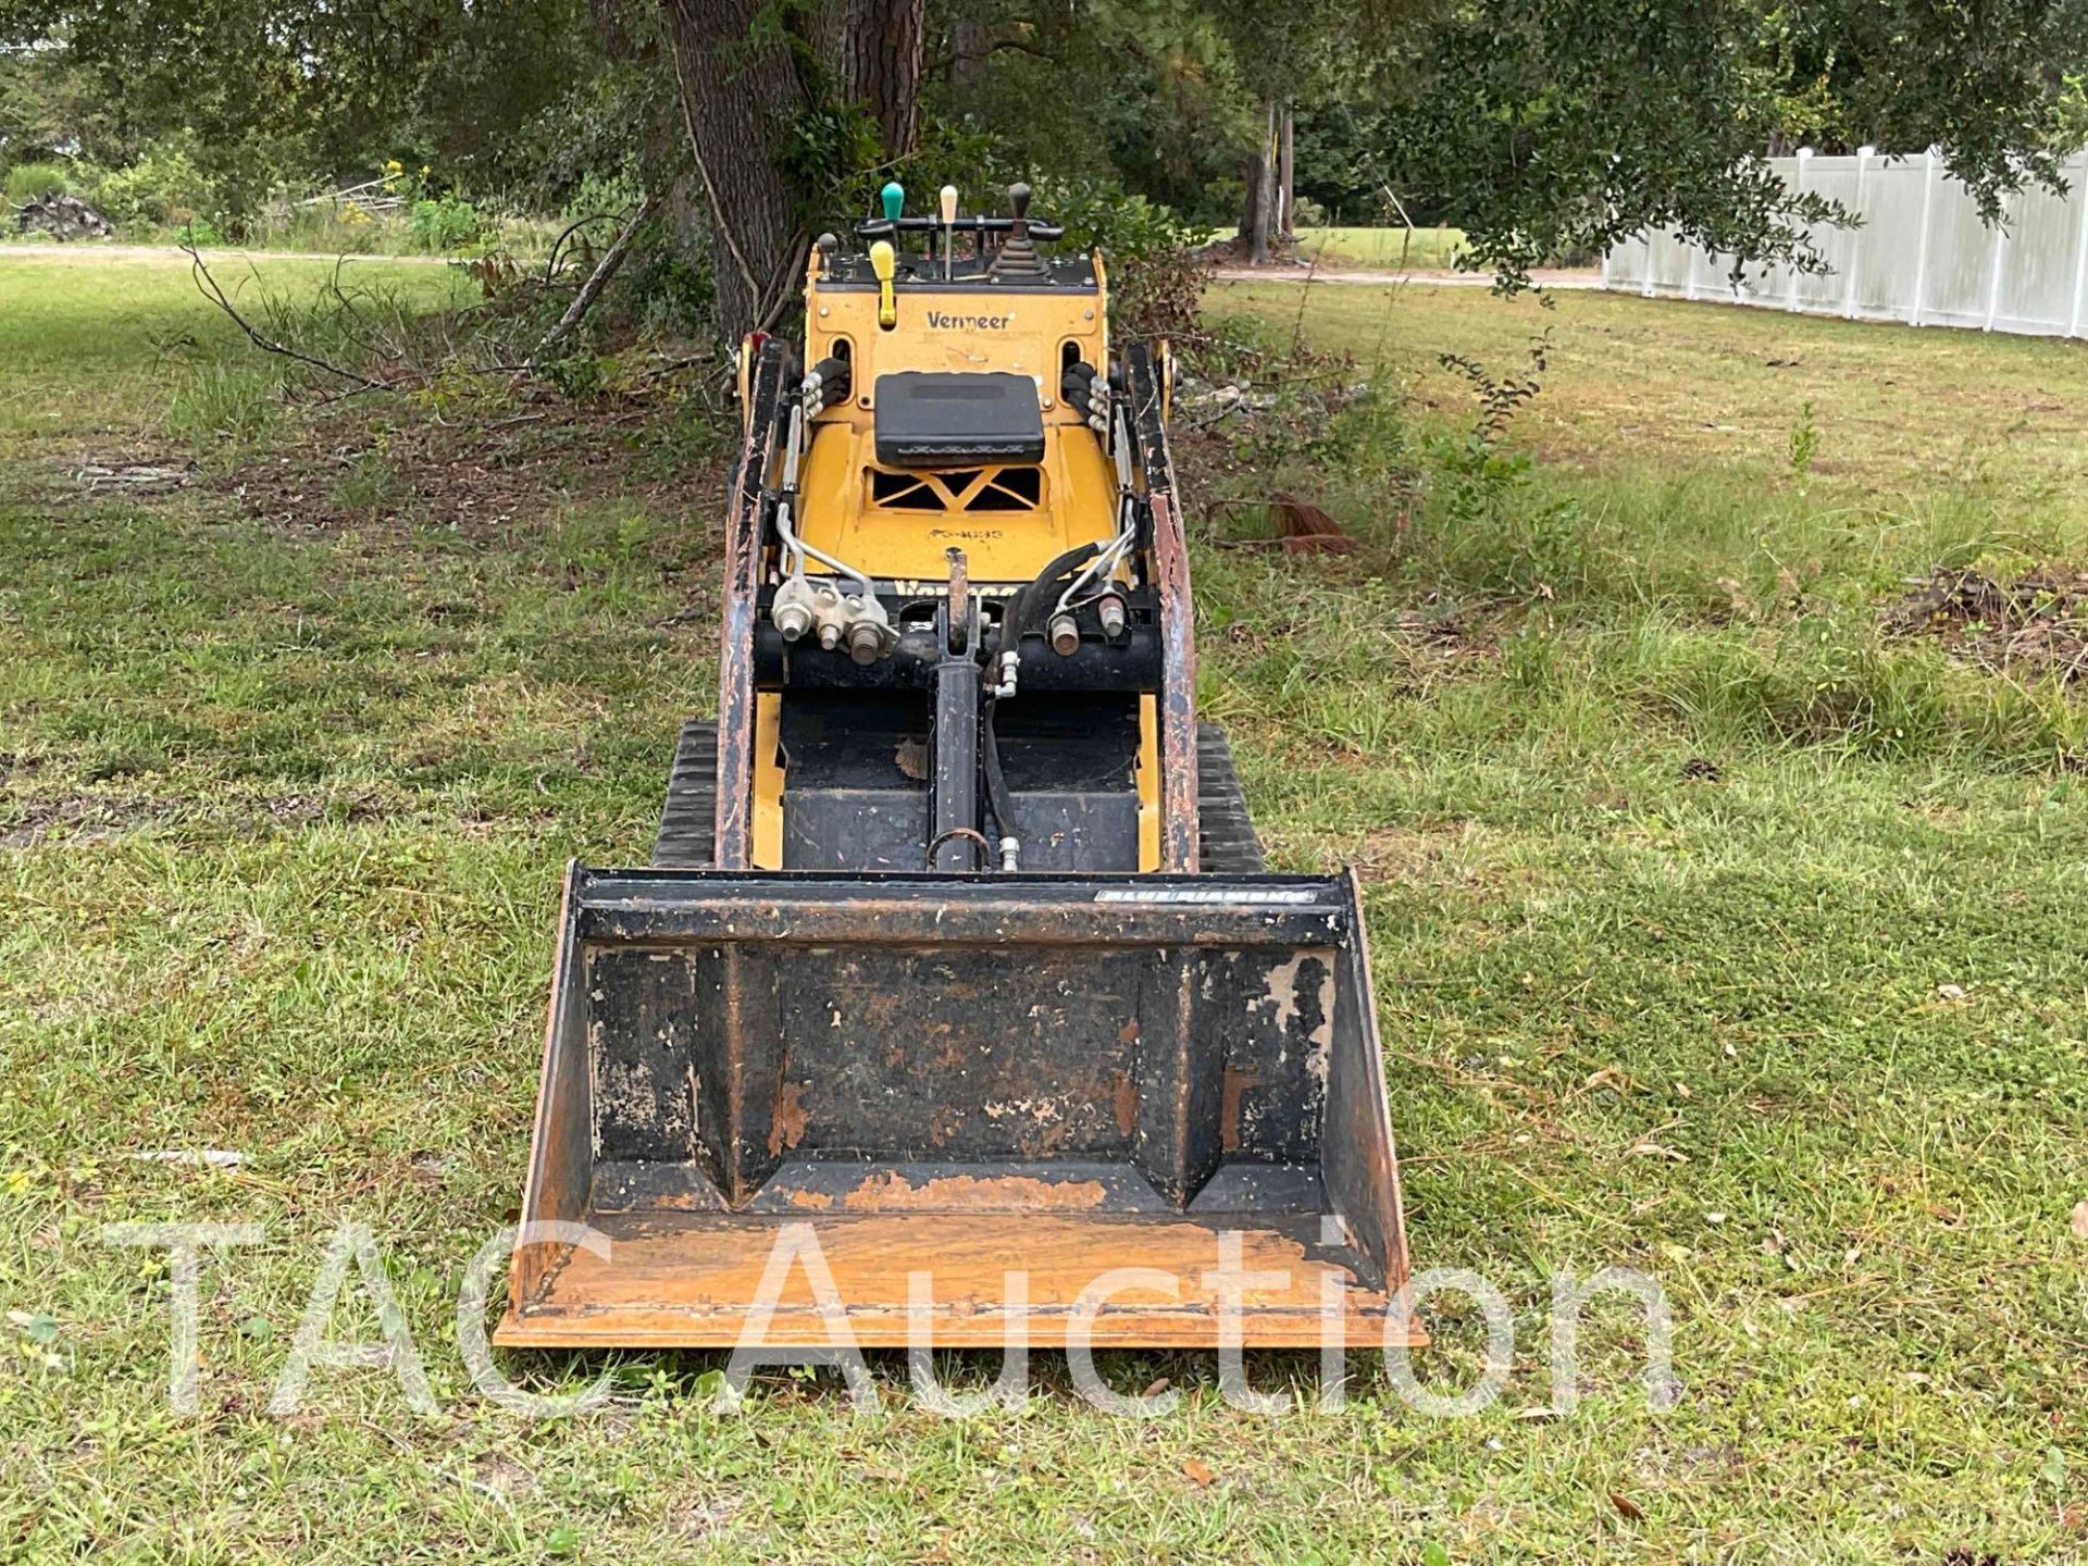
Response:
[[[773,0],[752,31],[810,54],[835,10]],[[411,213],[420,248],[478,242],[501,213],[672,190],[651,242],[699,280],[706,200],[664,15],[0,0],[0,167],[63,169],[121,223],[248,238],[280,234],[292,196],[399,163],[426,169],[416,200],[434,203]],[[1514,280],[1647,226],[1804,259],[1827,207],[1752,157],[1798,142],[1936,144],[1998,213],[2088,140],[2088,0],[933,0],[925,35],[917,146],[896,155],[837,94],[787,121],[777,159],[808,232],[894,175],[973,200],[1048,175],[1075,232],[1136,267],[1240,221],[1280,104],[1301,215],[1453,226]],[[15,186],[31,182],[50,175]]]

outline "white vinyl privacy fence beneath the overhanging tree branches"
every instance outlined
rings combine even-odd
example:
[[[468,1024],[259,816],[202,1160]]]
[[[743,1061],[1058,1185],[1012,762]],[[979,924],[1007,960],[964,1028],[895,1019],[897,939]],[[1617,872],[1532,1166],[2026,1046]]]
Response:
[[[1936,152],[1894,159],[1771,159],[1798,190],[1840,200],[1860,228],[1821,223],[1812,244],[1829,271],[1748,267],[1733,288],[1731,257],[1641,234],[1601,261],[1604,288],[1652,296],[1725,299],[1812,315],[1908,326],[2088,338],[2088,152],[2067,165],[2067,194],[2032,188],[1988,228]]]

